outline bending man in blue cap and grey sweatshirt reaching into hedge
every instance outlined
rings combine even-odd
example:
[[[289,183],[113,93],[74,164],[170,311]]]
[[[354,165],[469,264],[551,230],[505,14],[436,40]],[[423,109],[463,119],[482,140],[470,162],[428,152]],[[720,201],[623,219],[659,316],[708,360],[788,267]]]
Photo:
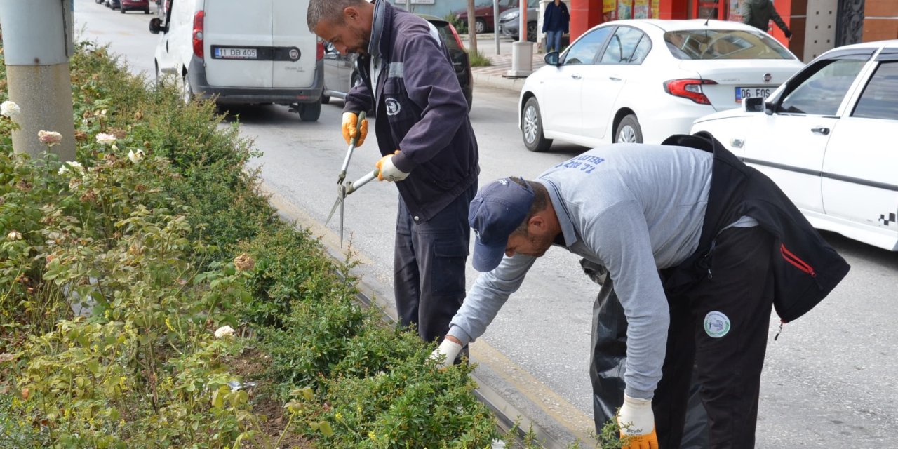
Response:
[[[603,146],[480,189],[468,220],[483,273],[432,357],[452,361],[480,337],[560,246],[608,269],[629,321],[618,415],[629,447],[679,445],[695,365],[711,447],[752,448],[771,305],[794,320],[849,266],[713,137],[665,143]]]

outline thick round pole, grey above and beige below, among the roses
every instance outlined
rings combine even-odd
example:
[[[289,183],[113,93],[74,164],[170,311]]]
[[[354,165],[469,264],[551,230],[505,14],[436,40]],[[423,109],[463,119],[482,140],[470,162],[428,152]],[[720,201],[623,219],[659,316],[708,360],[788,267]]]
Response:
[[[22,113],[13,149],[40,156],[47,145],[38,131],[56,131],[62,142],[50,148],[60,161],[75,160],[72,79],[68,58],[75,51],[74,0],[0,0],[0,27],[9,99]]]

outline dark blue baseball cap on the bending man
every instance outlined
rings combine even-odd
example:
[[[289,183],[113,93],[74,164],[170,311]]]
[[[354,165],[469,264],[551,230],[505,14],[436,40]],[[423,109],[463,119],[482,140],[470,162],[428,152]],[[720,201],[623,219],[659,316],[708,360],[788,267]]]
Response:
[[[511,178],[494,180],[477,192],[468,211],[475,235],[474,269],[487,272],[498,267],[508,236],[527,218],[535,196],[526,180],[522,186]]]

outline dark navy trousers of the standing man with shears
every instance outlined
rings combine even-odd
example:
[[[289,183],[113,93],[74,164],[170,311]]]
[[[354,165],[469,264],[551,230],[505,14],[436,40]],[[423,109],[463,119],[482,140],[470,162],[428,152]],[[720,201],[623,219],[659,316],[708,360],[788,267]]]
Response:
[[[464,269],[471,242],[471,184],[427,221],[409,214],[400,197],[393,258],[393,293],[402,326],[414,323],[425,341],[442,339],[465,296]]]

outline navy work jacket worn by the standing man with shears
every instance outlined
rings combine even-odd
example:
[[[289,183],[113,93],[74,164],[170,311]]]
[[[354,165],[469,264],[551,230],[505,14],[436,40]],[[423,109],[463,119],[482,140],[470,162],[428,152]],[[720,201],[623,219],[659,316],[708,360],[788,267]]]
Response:
[[[468,102],[449,53],[415,14],[389,2],[374,4],[368,55],[358,58],[364,83],[349,91],[344,112],[371,110],[381,154],[409,173],[396,182],[416,221],[427,221],[477,181],[477,140],[468,119]],[[378,62],[376,96],[371,61]]]

